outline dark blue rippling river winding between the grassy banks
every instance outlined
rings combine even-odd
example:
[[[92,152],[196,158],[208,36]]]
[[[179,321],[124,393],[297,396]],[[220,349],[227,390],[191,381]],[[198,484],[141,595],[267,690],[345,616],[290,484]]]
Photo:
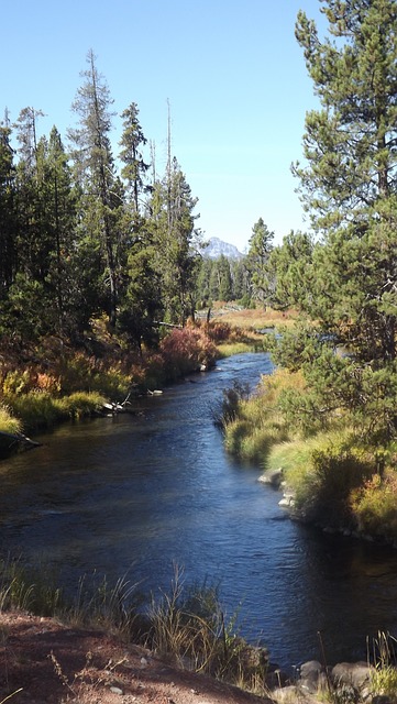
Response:
[[[320,659],[319,631],[329,662],[365,658],[366,637],[397,635],[397,552],[290,521],[213,425],[223,389],[271,372],[265,354],[230,358],[140,399],[137,416],[64,425],[2,462],[2,553],[68,590],[97,571],[157,593],[178,564],[187,584],[219,584],[282,667]]]

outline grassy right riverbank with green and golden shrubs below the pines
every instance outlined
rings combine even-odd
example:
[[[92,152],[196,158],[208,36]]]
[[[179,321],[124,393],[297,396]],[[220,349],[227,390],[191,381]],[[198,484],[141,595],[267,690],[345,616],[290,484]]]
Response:
[[[300,372],[279,369],[251,398],[227,396],[228,451],[282,472],[294,518],[397,547],[396,440],[365,433],[346,410],[319,419],[308,407],[302,425],[295,404],[305,409],[306,394]]]

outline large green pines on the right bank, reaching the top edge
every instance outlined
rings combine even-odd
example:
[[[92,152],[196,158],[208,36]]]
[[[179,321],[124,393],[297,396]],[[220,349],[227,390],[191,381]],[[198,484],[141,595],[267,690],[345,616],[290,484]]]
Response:
[[[300,276],[294,302],[316,324],[286,337],[279,351],[304,369],[317,408],[351,408],[389,436],[397,429],[397,7],[327,0],[321,11],[329,37],[320,41],[302,12],[296,26],[320,108],[307,114],[305,163],[294,167],[320,239],[291,273],[288,248],[293,262],[304,244],[291,235],[277,270],[279,287]],[[350,354],[337,356],[335,345]]]

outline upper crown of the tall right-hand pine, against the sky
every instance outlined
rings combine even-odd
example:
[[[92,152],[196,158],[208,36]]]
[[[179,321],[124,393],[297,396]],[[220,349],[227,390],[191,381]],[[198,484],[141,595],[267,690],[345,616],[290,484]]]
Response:
[[[327,0],[331,37],[298,15],[296,36],[321,109],[306,118],[296,165],[316,229],[367,230],[396,193],[397,7],[394,0]]]

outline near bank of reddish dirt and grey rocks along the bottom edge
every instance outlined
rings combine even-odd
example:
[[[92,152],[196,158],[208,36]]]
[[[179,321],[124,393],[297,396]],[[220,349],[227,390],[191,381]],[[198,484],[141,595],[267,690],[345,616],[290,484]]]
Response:
[[[173,664],[120,636],[23,610],[0,612],[0,701],[15,704],[394,704],[397,670],[366,662],[268,671],[257,695]]]

